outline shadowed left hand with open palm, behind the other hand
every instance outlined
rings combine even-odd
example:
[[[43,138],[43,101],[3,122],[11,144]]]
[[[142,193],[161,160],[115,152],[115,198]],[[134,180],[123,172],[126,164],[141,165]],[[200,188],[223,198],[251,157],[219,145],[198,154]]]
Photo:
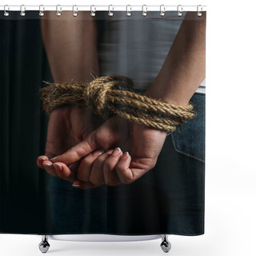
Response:
[[[62,176],[49,159],[82,142],[101,122],[102,120],[92,111],[79,106],[62,106],[54,110],[48,122],[46,154],[38,157],[38,167],[53,176]],[[69,180],[75,180],[75,177],[74,171],[70,172]]]

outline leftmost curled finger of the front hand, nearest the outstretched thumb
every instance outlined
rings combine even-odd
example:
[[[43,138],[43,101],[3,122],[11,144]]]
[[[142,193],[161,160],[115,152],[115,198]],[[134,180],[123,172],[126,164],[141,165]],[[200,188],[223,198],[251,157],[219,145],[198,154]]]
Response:
[[[90,182],[90,173],[94,166],[94,161],[98,156],[104,153],[104,150],[97,150],[83,158],[78,166],[78,179],[82,182]]]

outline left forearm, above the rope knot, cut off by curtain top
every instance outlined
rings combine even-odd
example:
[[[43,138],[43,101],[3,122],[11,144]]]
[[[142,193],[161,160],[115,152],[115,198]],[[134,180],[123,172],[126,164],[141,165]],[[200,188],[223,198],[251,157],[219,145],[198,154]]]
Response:
[[[85,82],[99,74],[97,28],[87,12],[79,18],[46,12],[42,38],[54,82]],[[82,15],[84,15],[83,18]]]

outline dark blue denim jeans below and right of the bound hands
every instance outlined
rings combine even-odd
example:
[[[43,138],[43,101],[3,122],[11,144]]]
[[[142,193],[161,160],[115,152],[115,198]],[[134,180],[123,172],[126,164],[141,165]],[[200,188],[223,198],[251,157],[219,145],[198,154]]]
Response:
[[[197,113],[166,137],[154,169],[130,185],[79,190],[50,177],[48,234],[204,233],[205,95]]]

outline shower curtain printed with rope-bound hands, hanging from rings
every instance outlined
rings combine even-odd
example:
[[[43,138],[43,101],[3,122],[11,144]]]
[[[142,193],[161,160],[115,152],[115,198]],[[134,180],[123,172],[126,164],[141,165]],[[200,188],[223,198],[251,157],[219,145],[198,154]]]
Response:
[[[90,14],[0,11],[0,232],[203,234],[206,12]],[[59,95],[69,98],[72,85],[104,79],[133,82],[118,90],[158,104],[193,106],[194,118],[178,115],[161,130],[158,119],[142,123],[144,103],[124,106],[124,96],[105,102],[116,112],[104,116],[97,95],[92,106],[50,98],[57,84],[71,85]],[[134,109],[144,121],[126,118]]]

